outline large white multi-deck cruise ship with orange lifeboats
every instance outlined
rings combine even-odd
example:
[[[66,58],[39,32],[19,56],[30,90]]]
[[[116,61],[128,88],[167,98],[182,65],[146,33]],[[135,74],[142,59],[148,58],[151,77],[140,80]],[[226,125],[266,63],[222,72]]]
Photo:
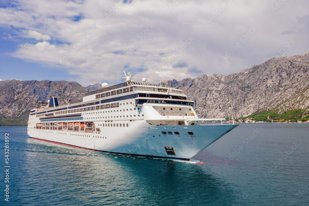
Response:
[[[59,106],[55,96],[37,103],[30,111],[28,135],[104,153],[189,161],[238,126],[222,124],[225,119],[200,119],[181,90],[145,78],[135,82],[124,74],[124,82],[103,83],[67,105]]]

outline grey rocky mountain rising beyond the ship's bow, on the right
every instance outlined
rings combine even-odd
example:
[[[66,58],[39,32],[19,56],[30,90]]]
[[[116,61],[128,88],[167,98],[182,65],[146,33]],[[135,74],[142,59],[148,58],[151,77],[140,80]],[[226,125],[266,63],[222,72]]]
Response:
[[[195,79],[164,81],[183,90],[195,101],[200,117],[222,118],[228,113],[243,117],[252,113],[302,109],[309,113],[309,53],[275,57],[234,74],[205,74]]]

